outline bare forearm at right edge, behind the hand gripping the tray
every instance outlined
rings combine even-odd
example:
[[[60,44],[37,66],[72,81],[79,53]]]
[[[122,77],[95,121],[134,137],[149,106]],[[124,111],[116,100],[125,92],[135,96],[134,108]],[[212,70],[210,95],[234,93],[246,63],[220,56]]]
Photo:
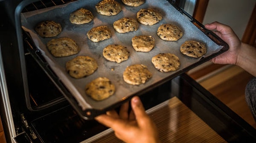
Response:
[[[241,43],[241,49],[239,51],[236,65],[246,70],[253,76],[256,76],[256,48]]]

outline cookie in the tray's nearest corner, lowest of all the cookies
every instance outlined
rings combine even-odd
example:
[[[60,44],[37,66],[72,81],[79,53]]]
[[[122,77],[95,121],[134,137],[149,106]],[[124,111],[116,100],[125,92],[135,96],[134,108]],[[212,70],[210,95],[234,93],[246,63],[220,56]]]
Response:
[[[85,93],[96,101],[108,98],[113,95],[115,91],[115,85],[106,77],[94,79],[85,86]]]

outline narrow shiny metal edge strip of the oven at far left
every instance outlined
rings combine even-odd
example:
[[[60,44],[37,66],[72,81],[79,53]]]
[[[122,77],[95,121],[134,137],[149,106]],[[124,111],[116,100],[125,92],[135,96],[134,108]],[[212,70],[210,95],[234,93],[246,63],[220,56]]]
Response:
[[[1,103],[1,110],[4,110],[3,113],[5,113],[5,116],[1,117],[2,122],[6,123],[8,125],[8,134],[12,135],[12,143],[16,143],[14,140],[14,137],[16,137],[15,133],[15,127],[14,127],[14,122],[12,118],[12,109],[11,109],[11,104],[9,101],[9,94],[8,94],[8,89],[6,85],[6,77],[5,77],[5,72],[3,68],[3,58],[2,58],[2,49],[1,49],[1,44],[0,44],[0,91],[1,91],[1,99],[3,102]],[[3,107],[2,107],[3,106]],[[6,131],[5,131],[6,132]]]

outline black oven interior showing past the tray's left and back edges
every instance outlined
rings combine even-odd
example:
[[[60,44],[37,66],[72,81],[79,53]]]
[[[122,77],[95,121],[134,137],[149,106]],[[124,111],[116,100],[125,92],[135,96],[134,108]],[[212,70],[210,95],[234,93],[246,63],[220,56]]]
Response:
[[[72,1],[75,0],[40,0],[24,7],[22,12],[35,11]],[[29,88],[29,97],[26,97],[28,108],[39,110],[64,102],[66,99],[48,76],[52,72],[42,68],[44,65],[47,66],[44,57],[41,56],[40,51],[34,46],[32,38],[25,31],[23,31],[23,43]],[[50,70],[50,68],[45,69]]]

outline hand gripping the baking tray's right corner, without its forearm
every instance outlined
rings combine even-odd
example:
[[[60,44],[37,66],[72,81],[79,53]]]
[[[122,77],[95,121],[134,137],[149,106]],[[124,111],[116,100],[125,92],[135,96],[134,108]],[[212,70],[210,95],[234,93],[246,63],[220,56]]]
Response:
[[[215,64],[236,64],[238,53],[241,48],[241,41],[232,28],[219,22],[212,22],[204,26],[218,35],[230,47],[227,52],[211,59],[211,62]]]

